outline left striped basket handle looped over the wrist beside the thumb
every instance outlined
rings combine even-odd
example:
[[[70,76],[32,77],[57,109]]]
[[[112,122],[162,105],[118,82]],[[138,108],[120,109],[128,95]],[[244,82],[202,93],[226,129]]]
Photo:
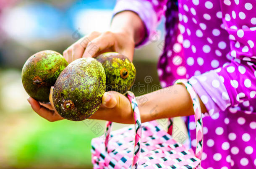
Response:
[[[135,142],[134,142],[134,150],[133,150],[133,164],[131,166],[132,169],[136,169],[138,166],[138,159],[141,152],[141,116],[138,110],[138,103],[135,99],[134,94],[131,91],[126,93],[129,101],[131,102],[131,107],[133,109],[133,116],[135,121]],[[110,138],[112,122],[108,121],[106,124],[106,133],[105,133],[105,147],[107,151],[107,144]]]

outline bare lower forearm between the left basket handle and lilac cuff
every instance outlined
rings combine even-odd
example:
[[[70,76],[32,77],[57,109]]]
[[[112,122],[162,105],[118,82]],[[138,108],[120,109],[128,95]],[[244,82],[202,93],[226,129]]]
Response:
[[[191,97],[180,84],[139,96],[137,100],[142,122],[194,114]],[[202,112],[206,112],[204,104],[200,105]]]

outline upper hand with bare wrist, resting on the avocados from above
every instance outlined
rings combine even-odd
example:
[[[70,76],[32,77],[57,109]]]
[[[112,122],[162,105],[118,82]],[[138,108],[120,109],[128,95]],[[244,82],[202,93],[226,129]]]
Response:
[[[68,47],[63,56],[71,63],[78,58],[95,57],[104,52],[118,52],[133,61],[135,44],[146,35],[144,24],[132,11],[118,13],[112,19],[110,31],[92,32]]]

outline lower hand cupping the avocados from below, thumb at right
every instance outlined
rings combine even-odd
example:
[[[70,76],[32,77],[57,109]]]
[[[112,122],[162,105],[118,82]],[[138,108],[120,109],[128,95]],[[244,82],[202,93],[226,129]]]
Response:
[[[53,106],[52,90],[53,87],[50,93],[51,105],[39,103],[31,97],[28,98],[28,101],[32,109],[44,119],[48,121],[62,120],[64,118],[57,113]],[[115,91],[109,91],[103,94],[102,104],[89,119],[107,120],[125,124],[134,123],[130,101],[124,95]]]

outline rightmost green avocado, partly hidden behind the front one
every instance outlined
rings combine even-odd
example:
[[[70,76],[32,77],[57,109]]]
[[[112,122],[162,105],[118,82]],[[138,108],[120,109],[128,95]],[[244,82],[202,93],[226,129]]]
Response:
[[[96,57],[102,63],[106,73],[106,91],[117,91],[124,94],[128,91],[136,78],[133,63],[125,56],[116,52],[102,53]],[[127,71],[127,73],[122,71]],[[126,76],[121,76],[127,74]]]

